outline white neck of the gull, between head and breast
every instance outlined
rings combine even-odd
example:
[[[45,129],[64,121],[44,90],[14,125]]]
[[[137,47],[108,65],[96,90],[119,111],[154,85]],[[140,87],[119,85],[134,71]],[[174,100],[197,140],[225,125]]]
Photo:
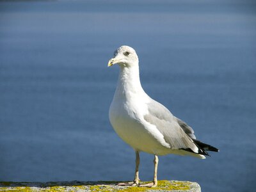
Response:
[[[115,98],[132,99],[134,94],[145,94],[140,84],[139,65],[133,67],[120,66]]]

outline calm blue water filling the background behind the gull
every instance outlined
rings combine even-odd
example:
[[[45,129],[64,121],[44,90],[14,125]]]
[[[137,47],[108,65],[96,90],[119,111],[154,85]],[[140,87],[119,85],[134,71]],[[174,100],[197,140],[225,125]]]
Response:
[[[220,148],[159,157],[159,179],[202,191],[253,191],[256,178],[253,1],[1,1],[0,180],[132,180],[134,152],[108,109],[120,45],[140,58],[152,98]],[[141,154],[141,180],[153,156]]]

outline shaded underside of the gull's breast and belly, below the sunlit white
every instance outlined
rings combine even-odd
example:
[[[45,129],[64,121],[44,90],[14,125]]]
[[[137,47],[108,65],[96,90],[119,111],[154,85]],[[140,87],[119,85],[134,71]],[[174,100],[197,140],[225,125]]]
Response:
[[[109,120],[118,136],[134,150],[158,155],[170,153],[170,148],[161,145],[159,139],[141,124],[138,116],[133,118],[133,114],[138,113],[132,113],[130,109],[122,103],[112,103],[109,108]]]

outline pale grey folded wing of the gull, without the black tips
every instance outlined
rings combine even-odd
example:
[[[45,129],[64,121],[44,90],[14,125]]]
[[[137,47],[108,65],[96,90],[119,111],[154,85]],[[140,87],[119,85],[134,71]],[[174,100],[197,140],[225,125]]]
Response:
[[[191,139],[193,136],[195,137],[193,129],[173,116],[167,108],[156,100],[152,99],[148,103],[148,114],[144,116],[144,119],[150,124],[156,125],[172,149],[191,148],[193,152],[198,152],[198,147]]]

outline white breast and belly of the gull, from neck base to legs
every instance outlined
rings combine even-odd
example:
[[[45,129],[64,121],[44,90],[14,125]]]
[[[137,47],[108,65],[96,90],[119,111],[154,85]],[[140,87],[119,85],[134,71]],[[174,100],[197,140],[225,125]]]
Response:
[[[168,143],[157,128],[145,122],[147,97],[113,99],[109,108],[109,120],[115,132],[134,150],[150,154],[168,154]]]

